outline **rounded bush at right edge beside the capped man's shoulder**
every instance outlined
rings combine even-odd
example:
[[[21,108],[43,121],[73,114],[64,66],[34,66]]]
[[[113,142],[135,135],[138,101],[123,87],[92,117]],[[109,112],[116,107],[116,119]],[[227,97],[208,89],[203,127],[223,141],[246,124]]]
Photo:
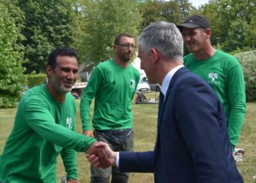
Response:
[[[246,87],[246,99],[256,100],[256,51],[241,52],[234,55],[242,65]]]

